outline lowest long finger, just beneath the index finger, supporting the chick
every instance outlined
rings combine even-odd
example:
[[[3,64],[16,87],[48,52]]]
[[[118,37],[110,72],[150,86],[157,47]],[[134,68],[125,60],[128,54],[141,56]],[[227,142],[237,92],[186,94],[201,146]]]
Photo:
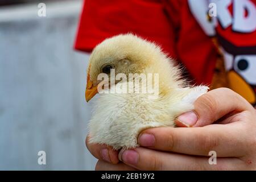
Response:
[[[121,151],[120,160],[127,165],[147,171],[155,170],[239,170],[245,169],[245,162],[236,158],[217,158],[216,164],[209,158],[171,154],[143,147]],[[210,159],[211,160],[211,159]]]

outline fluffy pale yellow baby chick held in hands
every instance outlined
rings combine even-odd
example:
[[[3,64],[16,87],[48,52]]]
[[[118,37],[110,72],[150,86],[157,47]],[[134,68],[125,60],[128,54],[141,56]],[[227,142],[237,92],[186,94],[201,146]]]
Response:
[[[180,69],[174,66],[174,60],[159,46],[125,34],[106,39],[93,49],[87,71],[86,101],[98,93],[101,83],[98,75],[106,73],[110,77],[112,69],[115,75],[123,73],[128,77],[129,73],[152,73],[159,77],[159,82],[153,81],[159,89],[155,99],[149,97],[151,93],[99,94],[89,122],[90,142],[107,144],[115,150],[137,147],[138,134],[144,129],[175,127],[174,119],[192,110],[193,102],[208,90],[207,86],[189,86],[181,78]],[[110,90],[131,81],[134,79],[115,81]]]

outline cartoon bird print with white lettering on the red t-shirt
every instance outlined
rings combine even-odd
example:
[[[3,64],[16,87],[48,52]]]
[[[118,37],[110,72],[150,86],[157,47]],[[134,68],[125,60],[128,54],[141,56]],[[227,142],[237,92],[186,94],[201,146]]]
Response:
[[[209,18],[210,3],[216,5],[217,16]],[[222,55],[217,60],[213,85],[222,83],[255,106],[256,0],[188,0],[188,4]],[[225,73],[219,73],[221,66]]]

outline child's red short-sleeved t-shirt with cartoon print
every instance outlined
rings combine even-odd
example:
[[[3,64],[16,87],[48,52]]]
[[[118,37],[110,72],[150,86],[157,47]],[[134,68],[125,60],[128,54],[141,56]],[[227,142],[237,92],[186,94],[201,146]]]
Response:
[[[256,103],[256,0],[85,0],[75,48],[127,32],[159,44],[197,84]]]

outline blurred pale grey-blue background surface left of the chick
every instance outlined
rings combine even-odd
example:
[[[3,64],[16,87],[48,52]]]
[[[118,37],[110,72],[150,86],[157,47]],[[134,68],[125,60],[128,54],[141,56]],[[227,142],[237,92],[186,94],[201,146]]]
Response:
[[[0,1],[1,170],[94,169],[84,144],[88,55],[73,49],[81,8],[80,0]]]

